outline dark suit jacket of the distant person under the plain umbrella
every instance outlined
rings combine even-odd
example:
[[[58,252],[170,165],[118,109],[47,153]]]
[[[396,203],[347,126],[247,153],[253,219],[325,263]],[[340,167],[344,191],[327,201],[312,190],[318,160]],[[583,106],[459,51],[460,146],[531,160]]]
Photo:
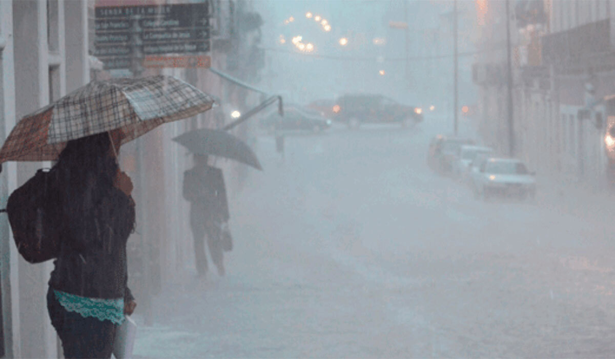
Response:
[[[192,216],[221,222],[229,220],[226,186],[221,169],[194,166],[184,172],[183,195],[191,203]]]

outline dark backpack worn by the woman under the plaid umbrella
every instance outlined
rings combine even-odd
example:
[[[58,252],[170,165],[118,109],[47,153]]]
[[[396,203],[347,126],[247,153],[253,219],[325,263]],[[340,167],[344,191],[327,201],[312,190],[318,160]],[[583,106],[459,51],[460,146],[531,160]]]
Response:
[[[60,206],[55,171],[36,171],[9,196],[6,212],[15,245],[23,259],[40,263],[60,252]]]

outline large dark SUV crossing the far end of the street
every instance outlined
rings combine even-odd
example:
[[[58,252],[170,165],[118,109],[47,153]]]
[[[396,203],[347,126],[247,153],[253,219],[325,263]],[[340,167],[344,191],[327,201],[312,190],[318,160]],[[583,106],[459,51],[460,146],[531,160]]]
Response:
[[[397,123],[410,126],[423,121],[419,107],[401,105],[383,95],[344,95],[333,106],[332,119],[356,128],[365,123]]]

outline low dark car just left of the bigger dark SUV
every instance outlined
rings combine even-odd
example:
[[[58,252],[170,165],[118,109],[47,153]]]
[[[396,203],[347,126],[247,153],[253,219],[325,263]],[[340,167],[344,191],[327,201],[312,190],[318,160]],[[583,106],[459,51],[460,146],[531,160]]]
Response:
[[[261,120],[261,127],[274,131],[311,131],[322,132],[331,127],[331,120],[324,118],[318,111],[287,105],[284,116],[277,111]]]

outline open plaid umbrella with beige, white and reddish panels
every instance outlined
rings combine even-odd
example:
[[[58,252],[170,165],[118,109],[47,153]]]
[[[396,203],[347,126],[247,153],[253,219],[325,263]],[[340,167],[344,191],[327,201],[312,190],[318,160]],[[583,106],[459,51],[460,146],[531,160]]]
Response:
[[[92,81],[22,118],[2,145],[0,163],[53,161],[69,140],[113,130],[129,142],[212,106],[209,95],[173,76]]]

